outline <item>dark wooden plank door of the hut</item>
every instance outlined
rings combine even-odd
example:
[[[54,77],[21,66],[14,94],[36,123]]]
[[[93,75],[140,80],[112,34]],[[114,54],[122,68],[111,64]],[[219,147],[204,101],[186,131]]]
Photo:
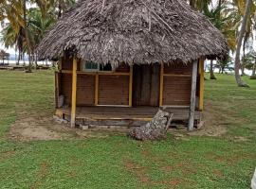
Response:
[[[133,106],[159,106],[160,65],[134,65]]]

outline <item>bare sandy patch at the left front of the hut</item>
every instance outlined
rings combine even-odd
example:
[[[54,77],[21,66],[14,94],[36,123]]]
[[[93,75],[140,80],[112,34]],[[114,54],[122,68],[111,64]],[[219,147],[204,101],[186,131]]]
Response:
[[[117,131],[71,129],[69,124],[56,123],[49,115],[30,115],[29,117],[19,118],[9,129],[9,138],[16,141],[100,138],[113,134],[117,134]]]

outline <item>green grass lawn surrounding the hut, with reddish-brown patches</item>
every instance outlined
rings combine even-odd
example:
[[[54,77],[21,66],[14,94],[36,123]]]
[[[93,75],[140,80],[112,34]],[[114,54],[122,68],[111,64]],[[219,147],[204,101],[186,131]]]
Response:
[[[53,114],[53,73],[0,72],[0,188],[248,188],[256,166],[256,81],[206,81],[208,110],[221,137],[172,133],[141,143],[124,135],[17,142],[9,128],[23,114]],[[217,119],[217,118],[216,118]],[[237,139],[244,140],[237,140]]]

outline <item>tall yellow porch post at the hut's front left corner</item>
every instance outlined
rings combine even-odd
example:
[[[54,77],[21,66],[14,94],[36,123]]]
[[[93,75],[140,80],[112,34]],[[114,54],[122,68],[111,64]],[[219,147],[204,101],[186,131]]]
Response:
[[[71,128],[75,128],[76,126],[76,108],[77,108],[77,59],[73,58]]]

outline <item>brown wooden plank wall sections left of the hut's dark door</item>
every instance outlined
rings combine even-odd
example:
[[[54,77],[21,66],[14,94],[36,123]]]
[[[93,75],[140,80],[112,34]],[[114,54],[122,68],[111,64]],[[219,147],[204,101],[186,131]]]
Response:
[[[61,73],[59,73],[59,92],[64,95],[64,104],[71,106],[72,97],[72,58],[65,57],[62,60]],[[81,69],[80,60],[78,61],[78,71]],[[63,71],[63,72],[62,72]],[[129,105],[129,72],[130,66],[120,64],[116,69],[117,75],[101,75],[99,73],[99,105]],[[118,73],[127,73],[127,76]],[[95,105],[96,74],[77,75],[77,106]],[[58,88],[58,87],[57,87]],[[56,93],[57,94],[57,93]],[[58,97],[56,97],[56,100]],[[56,102],[57,104],[57,102]]]

